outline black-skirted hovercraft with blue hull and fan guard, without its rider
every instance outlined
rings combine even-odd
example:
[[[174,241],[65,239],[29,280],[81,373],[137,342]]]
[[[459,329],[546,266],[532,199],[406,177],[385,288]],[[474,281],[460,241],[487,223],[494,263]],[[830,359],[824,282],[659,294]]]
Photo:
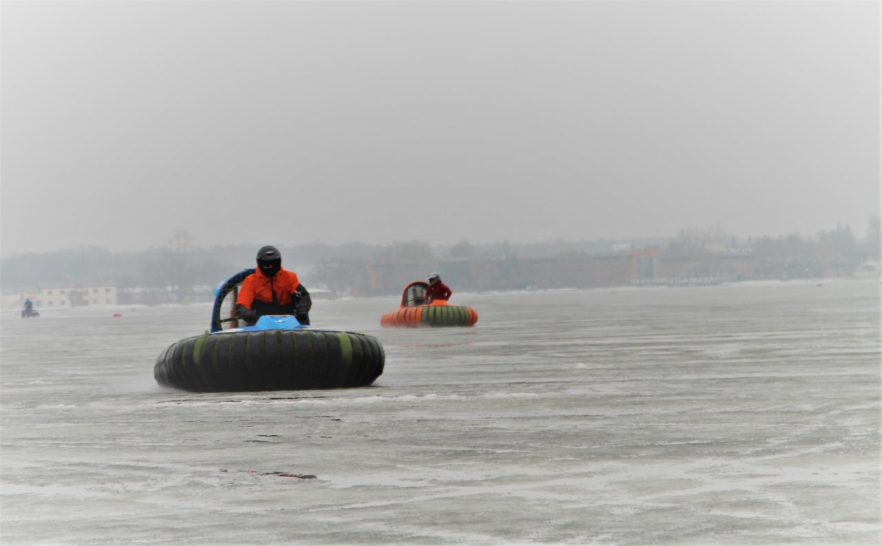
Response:
[[[375,337],[303,326],[293,315],[265,315],[253,326],[234,316],[239,286],[254,269],[214,291],[211,330],[162,351],[153,377],[194,392],[367,387],[383,373]]]

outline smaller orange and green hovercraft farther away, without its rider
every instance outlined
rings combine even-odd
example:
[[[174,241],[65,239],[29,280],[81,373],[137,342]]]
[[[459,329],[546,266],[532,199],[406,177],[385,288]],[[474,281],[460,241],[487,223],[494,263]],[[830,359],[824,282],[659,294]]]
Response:
[[[429,283],[415,281],[401,293],[401,306],[380,317],[381,326],[475,326],[478,312],[469,306],[452,306],[444,300],[426,304]]]

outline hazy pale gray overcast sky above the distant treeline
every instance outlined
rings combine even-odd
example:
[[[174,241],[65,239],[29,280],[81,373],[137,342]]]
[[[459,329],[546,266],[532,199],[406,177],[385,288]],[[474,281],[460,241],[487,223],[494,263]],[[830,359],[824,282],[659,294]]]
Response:
[[[814,234],[879,3],[2,4],[2,252]]]

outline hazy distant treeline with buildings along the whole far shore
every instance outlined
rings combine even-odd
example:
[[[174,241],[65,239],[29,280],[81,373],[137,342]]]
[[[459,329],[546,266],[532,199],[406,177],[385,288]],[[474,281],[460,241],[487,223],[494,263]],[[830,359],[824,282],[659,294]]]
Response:
[[[286,247],[273,242],[280,247],[285,266],[300,269],[307,287],[389,295],[430,271],[438,271],[460,291],[630,284],[636,277],[651,281],[852,276],[863,264],[879,260],[879,221],[873,218],[863,237],[848,225],[838,225],[814,237],[792,234],[752,240],[737,240],[720,228],[708,228],[684,229],[669,239],[534,244],[476,245],[463,240],[452,246],[397,241]],[[116,284],[122,300],[126,294],[144,291],[165,294],[170,300],[206,299],[222,279],[253,267],[258,246],[199,247],[188,232],[178,232],[166,246],[138,253],[82,247],[11,255],[2,260],[0,283],[4,291],[14,291],[101,281]],[[164,300],[166,296],[152,301]]]

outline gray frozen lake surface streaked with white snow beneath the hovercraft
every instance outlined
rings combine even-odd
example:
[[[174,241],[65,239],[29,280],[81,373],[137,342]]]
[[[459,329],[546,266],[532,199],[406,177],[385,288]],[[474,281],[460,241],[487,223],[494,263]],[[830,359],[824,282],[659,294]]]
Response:
[[[882,542],[878,280],[452,303],[315,303],[373,387],[205,395],[153,362],[207,305],[4,313],[0,543]]]

